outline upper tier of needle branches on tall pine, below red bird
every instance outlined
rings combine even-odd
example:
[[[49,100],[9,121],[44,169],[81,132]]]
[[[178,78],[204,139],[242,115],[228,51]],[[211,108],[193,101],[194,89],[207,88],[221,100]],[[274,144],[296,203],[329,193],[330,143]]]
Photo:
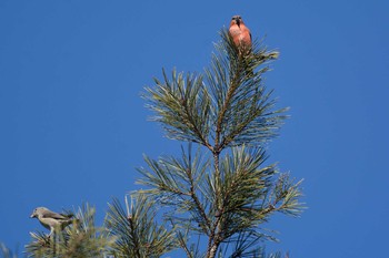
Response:
[[[156,85],[147,87],[143,95],[156,114],[152,120],[163,125],[168,137],[199,143],[215,152],[262,143],[277,134],[286,117],[281,115],[286,109],[273,110],[272,92],[266,92],[262,83],[269,68],[256,70],[278,52],[255,44],[242,56],[227,31],[221,38],[205,75],[173,70],[169,79],[163,71],[163,81],[154,79]]]

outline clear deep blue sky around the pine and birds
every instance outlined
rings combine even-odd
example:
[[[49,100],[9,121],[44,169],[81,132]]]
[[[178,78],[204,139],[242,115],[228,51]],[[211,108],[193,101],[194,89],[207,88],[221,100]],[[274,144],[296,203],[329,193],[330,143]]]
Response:
[[[270,161],[305,178],[309,207],[277,216],[291,257],[386,258],[389,231],[389,1],[0,1],[0,241],[43,228],[29,215],[123,198],[152,157],[178,154],[140,93],[201,72],[233,14],[281,52],[267,74],[291,118]]]

